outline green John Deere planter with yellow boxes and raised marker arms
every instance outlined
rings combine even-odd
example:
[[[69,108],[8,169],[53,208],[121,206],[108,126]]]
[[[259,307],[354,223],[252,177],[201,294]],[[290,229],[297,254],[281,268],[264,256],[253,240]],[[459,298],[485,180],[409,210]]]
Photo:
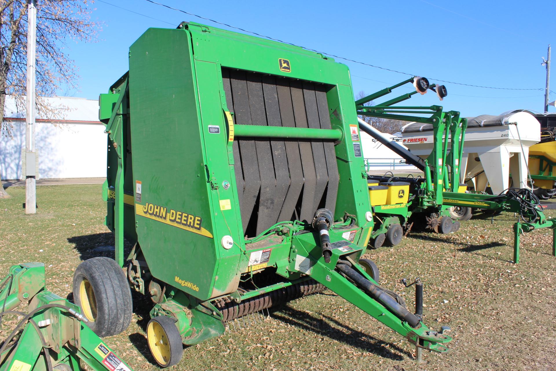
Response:
[[[405,93],[376,106],[365,105],[389,94],[394,88],[411,82],[415,86],[414,92]],[[415,220],[415,217],[420,215],[421,220],[426,220],[429,229],[437,233],[457,231],[460,226],[459,220],[469,219],[469,208],[473,207],[510,211],[518,215],[519,219],[514,224],[514,263],[519,262],[520,234],[539,228],[553,230],[552,254],[556,256],[556,219],[544,215],[543,206],[531,189],[508,189],[494,196],[465,192],[465,185],[460,184],[460,164],[467,120],[460,117],[460,112],[444,112],[441,106],[393,106],[408,100],[416,93],[423,94],[428,89],[433,89],[441,99],[447,94],[444,86],[429,85],[425,78],[416,76],[355,102],[358,115],[413,122],[404,127],[404,132],[432,132],[433,149],[426,159],[421,159],[405,147],[383,137],[374,127],[359,118],[361,130],[424,173],[423,177],[417,178],[400,178],[394,175],[369,176],[371,207],[378,221],[371,234],[370,247],[377,248],[385,240],[390,245],[398,243],[399,239],[395,239],[397,235],[394,232],[401,233],[401,226],[405,226],[406,231],[409,230],[412,225],[411,216]],[[415,138],[426,139],[427,137]],[[544,162],[543,169],[546,169],[547,163],[548,161]],[[388,197],[378,197],[381,190],[377,185],[387,189]],[[407,201],[403,186],[409,189]]]

